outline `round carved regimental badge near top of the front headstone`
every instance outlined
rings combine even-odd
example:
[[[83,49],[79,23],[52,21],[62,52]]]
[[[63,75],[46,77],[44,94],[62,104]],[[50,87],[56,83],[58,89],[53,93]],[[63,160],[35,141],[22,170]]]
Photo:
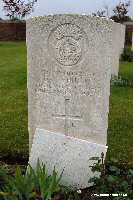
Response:
[[[52,57],[61,65],[72,66],[84,59],[88,50],[85,32],[74,24],[56,27],[48,39]]]

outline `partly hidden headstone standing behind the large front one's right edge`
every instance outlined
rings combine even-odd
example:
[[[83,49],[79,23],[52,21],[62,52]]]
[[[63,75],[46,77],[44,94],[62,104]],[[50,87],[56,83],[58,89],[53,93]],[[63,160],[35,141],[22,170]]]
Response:
[[[119,60],[125,43],[125,25],[114,23],[111,74],[118,76]]]

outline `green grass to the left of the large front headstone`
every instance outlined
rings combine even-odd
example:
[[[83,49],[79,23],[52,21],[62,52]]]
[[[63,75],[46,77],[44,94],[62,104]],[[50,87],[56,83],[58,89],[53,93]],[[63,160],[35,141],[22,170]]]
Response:
[[[0,155],[28,158],[25,42],[0,42]]]

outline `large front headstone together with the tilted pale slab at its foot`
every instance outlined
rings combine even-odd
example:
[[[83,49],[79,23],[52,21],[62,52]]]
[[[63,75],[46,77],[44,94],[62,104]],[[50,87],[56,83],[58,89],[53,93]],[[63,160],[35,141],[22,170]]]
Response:
[[[89,185],[89,159],[107,151],[113,25],[68,14],[27,20],[29,162],[64,169],[61,183],[73,188]]]

